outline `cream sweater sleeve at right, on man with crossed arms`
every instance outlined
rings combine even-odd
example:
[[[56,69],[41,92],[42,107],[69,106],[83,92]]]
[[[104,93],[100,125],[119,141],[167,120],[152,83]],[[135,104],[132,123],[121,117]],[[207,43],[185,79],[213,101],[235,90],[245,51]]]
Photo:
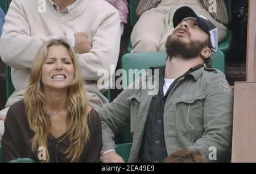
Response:
[[[77,54],[82,70],[82,76],[86,80],[98,80],[99,70],[105,69],[110,73],[110,65],[117,66],[120,46],[120,23],[117,10],[109,11],[100,27],[92,36],[92,49],[89,53]],[[114,71],[112,71],[114,73]],[[109,74],[113,75],[113,74]]]

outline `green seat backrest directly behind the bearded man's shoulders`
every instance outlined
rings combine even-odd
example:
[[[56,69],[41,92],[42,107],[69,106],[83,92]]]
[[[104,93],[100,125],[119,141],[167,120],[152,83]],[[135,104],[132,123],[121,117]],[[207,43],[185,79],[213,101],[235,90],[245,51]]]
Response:
[[[126,71],[122,76],[123,88],[138,78],[134,74],[133,78],[129,77],[129,69],[147,70],[152,66],[163,66],[166,65],[166,58],[167,54],[165,52],[127,53],[123,55],[121,59],[121,67],[123,71]],[[225,54],[221,52],[221,50],[217,50],[217,52],[213,54],[212,60],[212,67],[225,73]],[[126,77],[124,74],[127,74]]]

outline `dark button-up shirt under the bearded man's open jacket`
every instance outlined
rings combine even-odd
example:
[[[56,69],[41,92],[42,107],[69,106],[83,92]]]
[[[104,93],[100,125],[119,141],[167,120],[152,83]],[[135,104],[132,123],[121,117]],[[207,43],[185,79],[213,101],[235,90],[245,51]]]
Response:
[[[186,77],[187,74],[199,69],[200,67],[202,67],[202,65],[197,65],[189,69],[187,73],[181,77]],[[167,97],[172,88],[174,88],[175,84],[181,77],[174,80],[164,96],[163,86],[165,68],[166,66],[151,68],[153,72],[154,69],[159,70],[159,92],[158,95],[152,97],[144,128],[142,146],[139,152],[139,161],[144,163],[162,163],[167,157],[163,126],[164,105],[166,104]]]

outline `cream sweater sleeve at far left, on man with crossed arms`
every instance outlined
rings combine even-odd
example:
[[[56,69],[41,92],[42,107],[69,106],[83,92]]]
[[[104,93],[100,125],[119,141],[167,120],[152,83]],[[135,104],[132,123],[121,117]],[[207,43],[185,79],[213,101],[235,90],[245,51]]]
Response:
[[[58,39],[59,37],[30,37],[30,25],[27,22],[26,13],[19,1],[13,1],[6,15],[0,39],[2,61],[17,69],[30,68],[40,46],[46,40]]]

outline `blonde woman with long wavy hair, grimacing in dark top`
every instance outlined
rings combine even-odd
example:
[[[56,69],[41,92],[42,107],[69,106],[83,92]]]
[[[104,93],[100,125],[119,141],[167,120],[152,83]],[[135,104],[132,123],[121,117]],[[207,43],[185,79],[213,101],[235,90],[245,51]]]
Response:
[[[100,162],[98,113],[89,107],[75,53],[50,40],[32,63],[24,100],[7,113],[3,161]]]

